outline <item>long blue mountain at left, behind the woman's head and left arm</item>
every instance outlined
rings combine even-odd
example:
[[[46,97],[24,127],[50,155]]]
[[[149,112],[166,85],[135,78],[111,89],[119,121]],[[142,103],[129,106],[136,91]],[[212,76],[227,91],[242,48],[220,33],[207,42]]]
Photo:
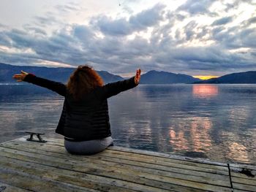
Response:
[[[67,67],[45,67],[45,66],[13,66],[9,64],[0,63],[0,82],[15,82],[12,79],[13,74],[20,73],[20,70],[24,72],[29,72],[36,74],[38,77],[43,77],[49,80],[55,80],[59,82],[67,82],[70,74],[75,70],[75,68]],[[104,80],[105,83],[116,82],[118,80],[124,80],[123,77],[118,75],[110,74],[105,71],[97,71]]]

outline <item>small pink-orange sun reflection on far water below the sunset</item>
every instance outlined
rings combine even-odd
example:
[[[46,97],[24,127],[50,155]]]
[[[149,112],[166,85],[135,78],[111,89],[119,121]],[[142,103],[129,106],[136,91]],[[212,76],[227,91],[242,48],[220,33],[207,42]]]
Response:
[[[219,89],[217,85],[206,85],[199,84],[193,85],[193,96],[195,97],[212,97],[219,94]]]

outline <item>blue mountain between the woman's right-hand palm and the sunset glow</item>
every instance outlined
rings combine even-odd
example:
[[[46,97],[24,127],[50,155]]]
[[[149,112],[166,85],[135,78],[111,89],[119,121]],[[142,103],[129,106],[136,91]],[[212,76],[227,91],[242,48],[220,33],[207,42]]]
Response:
[[[199,81],[195,77],[187,74],[175,74],[170,72],[149,71],[141,75],[141,84],[173,84],[173,83],[191,83]]]

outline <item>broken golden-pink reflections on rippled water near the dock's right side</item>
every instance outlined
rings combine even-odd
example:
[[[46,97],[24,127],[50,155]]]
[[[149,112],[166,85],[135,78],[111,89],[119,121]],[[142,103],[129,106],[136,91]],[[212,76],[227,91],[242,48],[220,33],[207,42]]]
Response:
[[[190,118],[189,122],[182,122],[176,127],[170,127],[170,145],[173,147],[173,151],[205,153],[208,158],[213,160],[218,157],[218,161],[220,159],[222,161],[226,161],[226,159],[240,162],[252,161],[256,150],[248,153],[248,148],[255,149],[255,147],[246,146],[247,142],[242,140],[236,132],[222,131],[219,137],[222,137],[223,140],[219,144],[215,143],[214,138],[211,137],[211,129],[213,129],[211,118]],[[252,131],[252,136],[256,137],[256,131]],[[254,145],[254,142],[249,145]]]

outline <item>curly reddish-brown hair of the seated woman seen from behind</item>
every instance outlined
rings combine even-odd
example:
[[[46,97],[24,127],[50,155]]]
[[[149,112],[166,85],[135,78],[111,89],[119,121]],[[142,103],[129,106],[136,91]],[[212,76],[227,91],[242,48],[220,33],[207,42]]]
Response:
[[[72,97],[78,101],[91,92],[94,88],[104,84],[102,77],[91,67],[87,65],[78,66],[70,75],[67,82],[67,90]]]

